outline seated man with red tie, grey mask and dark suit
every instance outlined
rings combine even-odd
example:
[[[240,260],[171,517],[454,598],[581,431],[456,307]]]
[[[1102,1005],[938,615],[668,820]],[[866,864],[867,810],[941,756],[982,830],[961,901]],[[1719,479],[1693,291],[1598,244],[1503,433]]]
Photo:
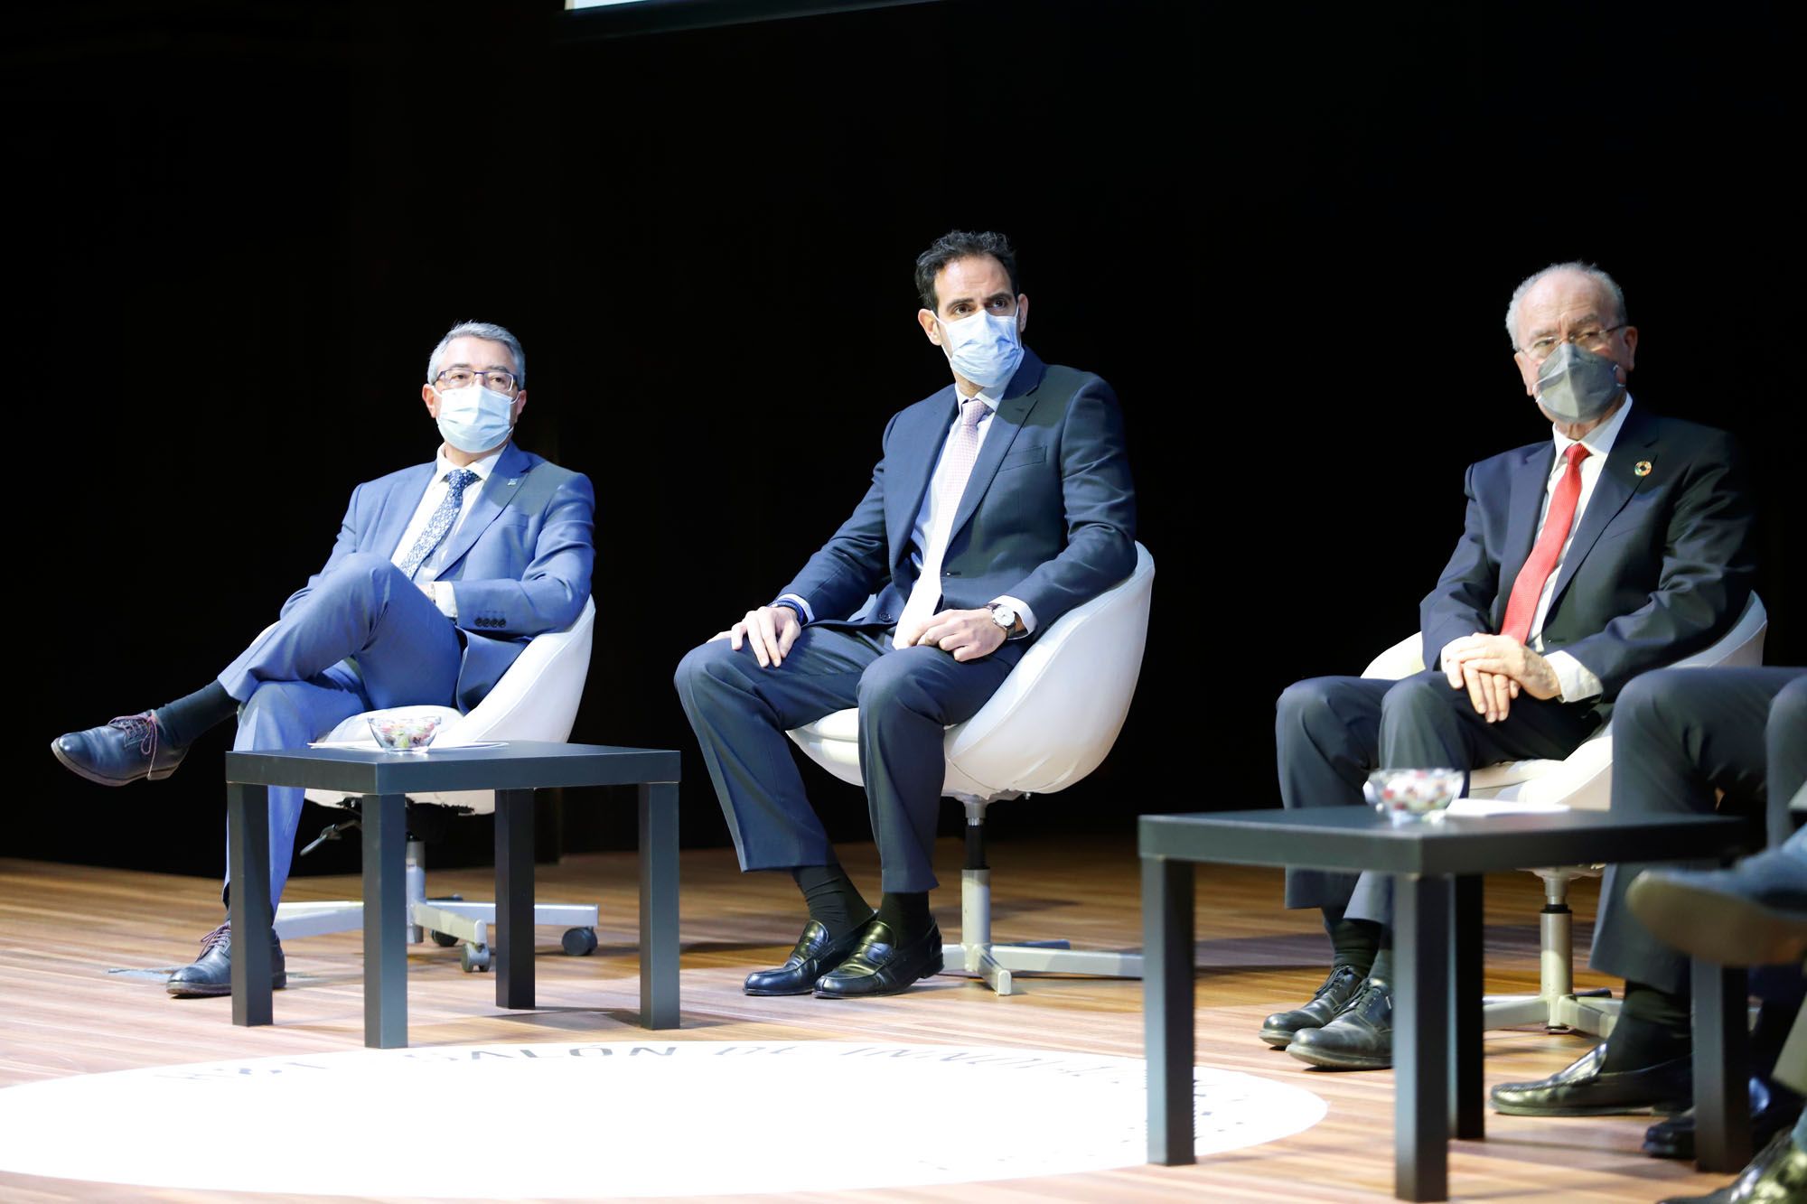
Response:
[[[1424,673],[1314,678],[1281,694],[1287,806],[1361,804],[1379,767],[1565,757],[1626,682],[1706,647],[1744,609],[1751,499],[1737,448],[1634,405],[1637,327],[1612,277],[1552,264],[1518,286],[1505,325],[1550,437],[1469,466],[1462,539],[1418,609]],[[1261,1039],[1328,1068],[1391,1065],[1386,888],[1384,875],[1287,873],[1287,906],[1323,909],[1335,962],[1308,1003],[1267,1018]],[[1664,1054],[1635,1034],[1675,1007],[1630,983],[1612,1068]]]

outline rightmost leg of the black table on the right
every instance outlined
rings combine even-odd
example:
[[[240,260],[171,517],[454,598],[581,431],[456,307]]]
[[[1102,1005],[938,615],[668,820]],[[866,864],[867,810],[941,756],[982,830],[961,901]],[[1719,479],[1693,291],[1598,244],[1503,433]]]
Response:
[[[1742,969],[1693,962],[1695,1159],[1704,1171],[1751,1161],[1749,985]]]

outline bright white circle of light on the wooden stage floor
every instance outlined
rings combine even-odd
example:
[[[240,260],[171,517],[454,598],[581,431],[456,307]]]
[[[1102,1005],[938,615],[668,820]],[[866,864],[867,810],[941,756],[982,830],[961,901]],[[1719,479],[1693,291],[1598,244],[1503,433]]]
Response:
[[[1194,1101],[1200,1155],[1325,1115],[1306,1090],[1207,1067]],[[11,1086],[0,1170],[385,1197],[905,1188],[1137,1166],[1146,1108],[1140,1059],[1041,1049],[448,1045]]]

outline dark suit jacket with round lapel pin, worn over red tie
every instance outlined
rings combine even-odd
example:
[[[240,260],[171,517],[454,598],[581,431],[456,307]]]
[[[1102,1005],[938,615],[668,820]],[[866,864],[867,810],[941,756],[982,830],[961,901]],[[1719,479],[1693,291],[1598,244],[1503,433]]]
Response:
[[[1500,631],[1554,463],[1543,439],[1469,466],[1462,542],[1418,606],[1426,665],[1449,640]],[[1639,673],[1700,651],[1751,595],[1751,521],[1731,436],[1634,405],[1563,557],[1543,651],[1587,665],[1603,705]]]

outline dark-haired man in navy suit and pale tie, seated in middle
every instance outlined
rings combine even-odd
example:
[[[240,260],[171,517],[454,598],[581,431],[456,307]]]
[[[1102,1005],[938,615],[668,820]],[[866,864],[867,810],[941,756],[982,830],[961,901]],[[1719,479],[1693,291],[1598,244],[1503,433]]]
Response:
[[[748,994],[891,994],[941,969],[929,891],[943,730],[1039,631],[1135,568],[1117,398],[1023,347],[1010,242],[943,235],[918,257],[916,289],[952,383],[891,418],[866,497],[777,598],[678,667],[741,868],[788,870],[810,909],[791,956],[748,974]],[[851,705],[884,862],[876,913],[784,738]]]

